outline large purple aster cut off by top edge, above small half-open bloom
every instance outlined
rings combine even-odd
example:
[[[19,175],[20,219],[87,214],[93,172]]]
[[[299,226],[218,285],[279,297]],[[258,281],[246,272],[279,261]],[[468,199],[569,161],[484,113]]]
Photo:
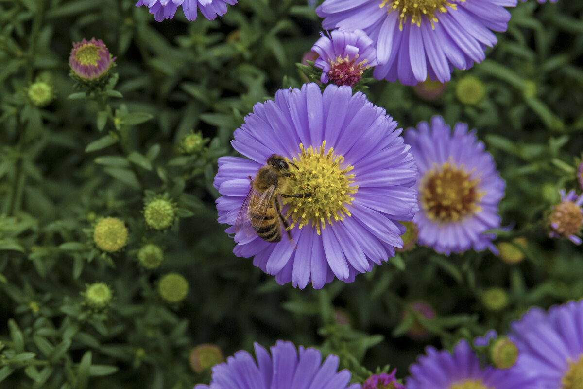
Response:
[[[449,81],[497,43],[517,0],[326,0],[316,9],[322,27],[364,30],[377,48],[374,78],[415,85],[430,76]]]

